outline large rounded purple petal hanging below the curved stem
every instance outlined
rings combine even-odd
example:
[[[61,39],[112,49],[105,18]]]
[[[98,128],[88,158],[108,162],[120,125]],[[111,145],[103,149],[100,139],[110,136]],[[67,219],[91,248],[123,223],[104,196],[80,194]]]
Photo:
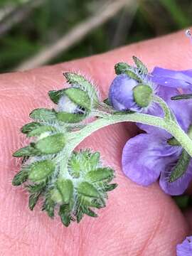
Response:
[[[176,148],[161,137],[139,134],[124,146],[122,170],[132,181],[148,186],[159,178],[167,164],[176,159]]]

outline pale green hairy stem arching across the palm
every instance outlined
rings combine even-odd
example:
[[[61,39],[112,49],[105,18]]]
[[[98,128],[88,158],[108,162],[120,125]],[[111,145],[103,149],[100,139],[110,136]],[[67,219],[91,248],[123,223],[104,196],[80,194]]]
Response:
[[[97,111],[97,117],[99,119],[87,124],[87,126],[78,132],[73,132],[69,138],[68,144],[63,149],[61,155],[63,159],[62,172],[65,173],[68,169],[68,159],[71,153],[80,142],[82,142],[86,137],[90,136],[93,132],[98,129],[107,127],[110,124],[117,124],[119,122],[140,122],[142,124],[149,124],[154,127],[159,127],[165,129],[173,137],[175,137],[181,144],[183,149],[186,149],[188,154],[192,156],[192,140],[188,135],[181,129],[181,127],[174,122],[172,119],[167,120],[161,117],[154,117],[149,114],[132,113],[132,114],[107,114],[106,112]]]

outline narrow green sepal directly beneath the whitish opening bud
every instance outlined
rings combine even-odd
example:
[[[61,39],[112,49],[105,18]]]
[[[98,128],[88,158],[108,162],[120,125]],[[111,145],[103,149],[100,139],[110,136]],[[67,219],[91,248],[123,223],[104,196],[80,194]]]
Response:
[[[58,121],[73,124],[77,122],[81,122],[85,119],[86,114],[75,114],[75,113],[68,113],[68,112],[58,112],[56,114]]]

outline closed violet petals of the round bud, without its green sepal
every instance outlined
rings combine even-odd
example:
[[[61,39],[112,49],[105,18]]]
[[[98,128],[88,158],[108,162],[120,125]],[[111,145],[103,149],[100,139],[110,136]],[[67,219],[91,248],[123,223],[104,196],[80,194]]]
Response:
[[[128,75],[117,75],[112,81],[109,91],[109,100],[115,110],[138,111],[139,107],[134,102],[132,89],[137,85],[137,81],[129,78]]]

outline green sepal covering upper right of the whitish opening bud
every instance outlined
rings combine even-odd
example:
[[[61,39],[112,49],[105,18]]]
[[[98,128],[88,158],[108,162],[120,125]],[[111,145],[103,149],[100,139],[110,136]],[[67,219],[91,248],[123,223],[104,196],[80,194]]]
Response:
[[[81,90],[80,88],[70,87],[66,89],[64,93],[78,106],[84,107],[86,110],[91,109],[90,97],[87,92]]]

